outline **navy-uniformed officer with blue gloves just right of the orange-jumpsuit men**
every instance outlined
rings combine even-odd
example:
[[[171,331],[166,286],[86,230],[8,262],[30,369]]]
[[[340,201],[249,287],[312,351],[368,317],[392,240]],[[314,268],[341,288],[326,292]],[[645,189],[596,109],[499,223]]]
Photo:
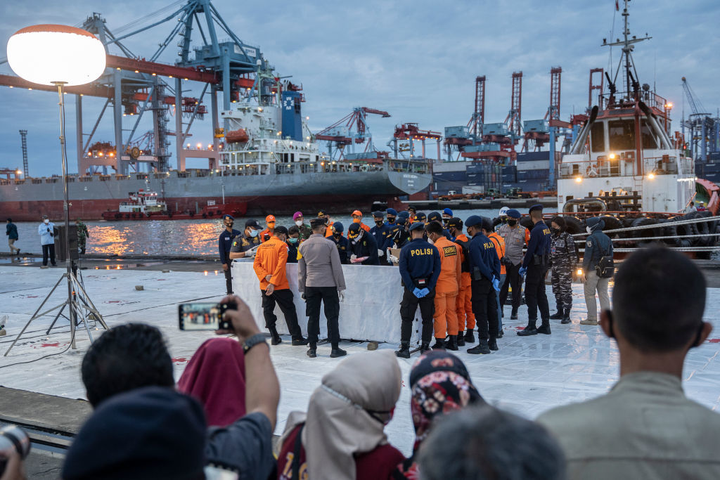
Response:
[[[469,246],[470,288],[479,340],[477,346],[467,350],[467,353],[487,354],[490,350],[498,350],[498,304],[495,291],[500,289],[500,260],[495,252],[495,243],[482,233],[482,217],[471,215],[465,220],[465,225],[468,235],[472,237]]]

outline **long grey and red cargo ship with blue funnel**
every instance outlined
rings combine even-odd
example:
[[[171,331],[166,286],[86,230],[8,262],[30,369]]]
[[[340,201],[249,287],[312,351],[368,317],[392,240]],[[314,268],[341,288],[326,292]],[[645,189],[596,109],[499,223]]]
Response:
[[[138,191],[158,193],[165,207],[154,219],[203,213],[292,214],[298,209],[345,212],[400,197],[431,183],[431,160],[356,155],[332,160],[302,117],[301,96],[278,82],[262,103],[248,98],[221,112],[230,126],[215,170],[68,176],[71,218],[127,219],[120,204]],[[216,206],[222,205],[222,208]],[[126,206],[127,207],[127,206]],[[27,222],[63,216],[63,177],[0,178],[0,208]],[[145,215],[145,217],[148,217]]]

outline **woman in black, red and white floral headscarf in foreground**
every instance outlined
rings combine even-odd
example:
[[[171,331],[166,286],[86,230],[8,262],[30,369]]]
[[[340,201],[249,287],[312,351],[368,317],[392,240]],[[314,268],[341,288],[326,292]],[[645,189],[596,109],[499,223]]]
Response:
[[[417,455],[433,425],[450,412],[469,404],[485,404],[475,389],[464,363],[446,350],[430,350],[415,362],[410,371],[410,412],[415,425],[413,455],[402,461],[393,479],[420,479]]]

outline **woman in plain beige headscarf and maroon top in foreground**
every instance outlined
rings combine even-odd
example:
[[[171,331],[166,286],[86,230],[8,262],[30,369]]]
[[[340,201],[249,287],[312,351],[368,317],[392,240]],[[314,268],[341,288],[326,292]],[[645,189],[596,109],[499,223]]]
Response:
[[[323,376],[307,413],[291,412],[280,439],[281,480],[390,479],[402,453],[384,427],[400,397],[392,350],[356,353]]]

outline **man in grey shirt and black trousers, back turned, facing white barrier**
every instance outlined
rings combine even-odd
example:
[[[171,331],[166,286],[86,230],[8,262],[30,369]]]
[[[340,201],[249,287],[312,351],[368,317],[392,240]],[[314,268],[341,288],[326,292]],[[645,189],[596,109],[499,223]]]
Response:
[[[297,261],[297,289],[305,299],[305,314],[308,317],[307,340],[310,349],[307,350],[307,356],[318,356],[320,302],[323,302],[325,317],[328,319],[328,340],[333,347],[330,358],[337,358],[347,354],[338,346],[338,316],[340,300],[344,298],[345,277],[335,243],[325,238],[325,219],[312,219],[310,227],[312,235],[300,244],[300,259]]]

